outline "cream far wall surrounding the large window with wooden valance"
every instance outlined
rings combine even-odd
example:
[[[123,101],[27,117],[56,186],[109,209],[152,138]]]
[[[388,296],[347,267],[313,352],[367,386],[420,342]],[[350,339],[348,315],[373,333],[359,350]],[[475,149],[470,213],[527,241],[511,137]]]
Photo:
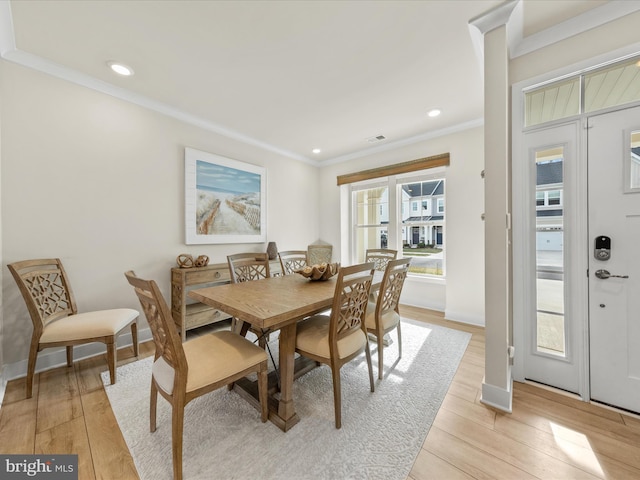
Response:
[[[450,320],[484,324],[483,149],[483,129],[473,128],[321,168],[320,237],[333,244],[334,258],[341,258],[338,175],[449,152],[446,287],[440,281],[408,279],[402,302],[442,310]]]

